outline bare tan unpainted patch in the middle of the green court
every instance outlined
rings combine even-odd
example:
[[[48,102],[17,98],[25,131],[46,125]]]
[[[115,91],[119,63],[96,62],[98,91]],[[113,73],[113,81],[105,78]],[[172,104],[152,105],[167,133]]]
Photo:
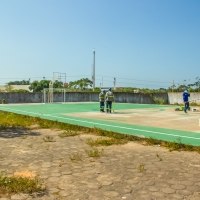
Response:
[[[99,119],[109,122],[120,122],[158,128],[167,128],[200,133],[200,112],[175,111],[173,108],[164,109],[130,109],[116,110],[114,113],[72,113],[69,116],[88,119]]]

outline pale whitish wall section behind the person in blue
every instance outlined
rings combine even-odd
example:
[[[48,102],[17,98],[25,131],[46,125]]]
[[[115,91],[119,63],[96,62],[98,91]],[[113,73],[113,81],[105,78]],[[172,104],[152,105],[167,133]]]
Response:
[[[169,92],[168,93],[168,102],[169,104],[176,104],[176,103],[183,103],[183,97],[182,97],[182,92]],[[190,93],[190,98],[189,101],[196,102],[197,104],[200,104],[200,92],[192,92]]]

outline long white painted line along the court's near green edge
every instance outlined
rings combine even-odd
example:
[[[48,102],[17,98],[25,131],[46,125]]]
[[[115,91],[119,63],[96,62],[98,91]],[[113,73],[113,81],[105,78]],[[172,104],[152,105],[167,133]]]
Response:
[[[190,139],[200,140],[200,138],[184,136],[184,135],[182,136],[182,135],[175,135],[175,134],[170,134],[170,133],[162,133],[162,132],[157,132],[157,131],[148,131],[148,130],[137,129],[137,128],[128,128],[128,127],[123,127],[123,126],[101,124],[101,123],[98,123],[98,122],[90,122],[90,121],[79,120],[79,119],[71,119],[71,118],[67,118],[67,117],[58,117],[58,116],[53,116],[53,115],[50,115],[50,114],[39,114],[39,113],[27,112],[27,111],[23,111],[23,110],[16,110],[16,109],[10,109],[10,108],[7,108],[7,109],[13,110],[13,111],[18,111],[18,112],[41,115],[41,116],[42,115],[43,116],[49,116],[49,117],[58,118],[58,119],[66,119],[66,120],[69,120],[69,121],[84,122],[84,123],[88,123],[88,124],[101,125],[101,126],[107,126],[107,127],[113,127],[113,128],[120,128],[120,129],[127,129],[127,130],[140,131],[140,132],[146,132],[146,133],[155,133],[155,134],[159,134],[159,135],[167,135],[167,136],[172,136],[172,137],[181,137],[181,138],[190,138]]]

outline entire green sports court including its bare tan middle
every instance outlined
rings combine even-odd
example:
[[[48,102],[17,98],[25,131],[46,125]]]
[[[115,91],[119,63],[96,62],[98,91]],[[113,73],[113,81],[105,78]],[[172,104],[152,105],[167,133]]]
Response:
[[[115,103],[111,114],[100,113],[97,102],[54,104],[1,104],[0,110],[98,127],[122,134],[154,137],[200,145],[200,112],[175,111],[177,106]]]

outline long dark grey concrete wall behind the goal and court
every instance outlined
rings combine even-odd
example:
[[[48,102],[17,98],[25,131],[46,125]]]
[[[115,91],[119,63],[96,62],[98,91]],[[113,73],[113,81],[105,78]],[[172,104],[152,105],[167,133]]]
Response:
[[[153,98],[150,94],[140,93],[114,93],[115,101],[119,103],[140,103],[140,104],[152,104]],[[159,97],[168,103],[167,93],[153,94],[155,97]],[[0,103],[2,99],[6,100],[6,103],[43,103],[43,93],[0,93]],[[47,99],[47,96],[46,96]],[[64,99],[63,93],[54,93],[54,101],[62,102]],[[99,93],[94,92],[66,92],[66,102],[98,102]]]

